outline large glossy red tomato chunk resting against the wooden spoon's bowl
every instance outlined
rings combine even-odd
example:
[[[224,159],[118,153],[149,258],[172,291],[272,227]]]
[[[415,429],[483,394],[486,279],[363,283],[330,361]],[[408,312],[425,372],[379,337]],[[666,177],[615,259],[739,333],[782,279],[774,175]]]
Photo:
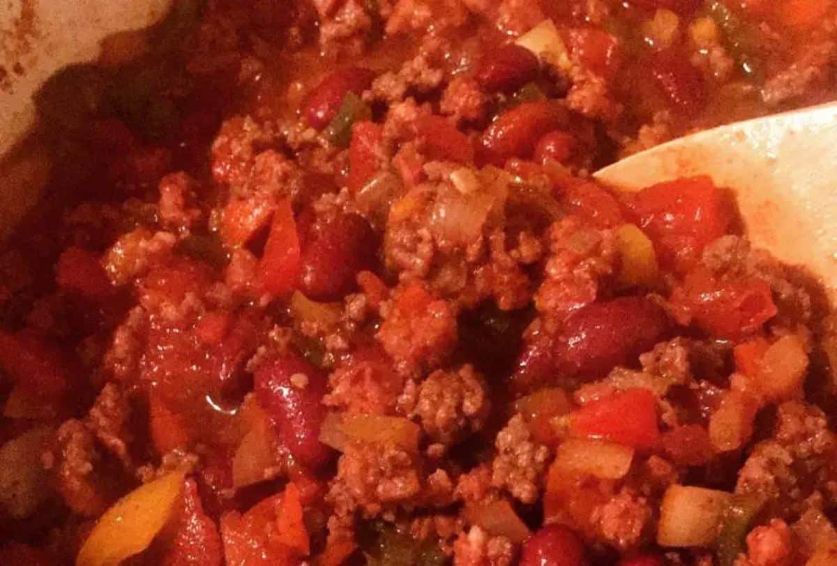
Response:
[[[659,183],[626,197],[639,227],[670,268],[688,270],[711,241],[727,234],[730,205],[708,177]]]

